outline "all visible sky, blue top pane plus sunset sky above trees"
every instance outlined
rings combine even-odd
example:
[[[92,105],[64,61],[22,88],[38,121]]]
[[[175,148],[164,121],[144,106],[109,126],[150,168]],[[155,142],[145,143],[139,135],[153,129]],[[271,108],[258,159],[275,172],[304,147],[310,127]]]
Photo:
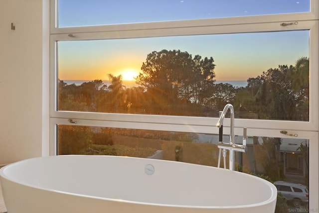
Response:
[[[228,5],[228,14],[225,11],[217,14],[216,11],[220,10],[216,6],[211,6],[213,9],[210,10],[207,9],[209,8],[207,5],[214,5],[212,3],[217,2],[216,0],[148,0],[148,5],[145,5],[146,0],[135,0],[134,9],[152,12],[145,7],[149,8],[150,5],[152,5],[150,8],[163,7],[162,4],[159,4],[163,1],[167,2],[171,9],[171,12],[166,10],[165,17],[167,16],[168,20],[207,18],[211,17],[211,14],[214,14],[214,17],[224,17],[309,10],[309,0],[265,0],[263,7],[260,4],[255,5],[256,0],[219,0],[218,6],[221,8],[225,8],[225,4],[232,5],[231,7]],[[90,0],[87,1],[90,3],[87,5],[83,2],[60,0],[59,25],[78,26],[162,21],[163,17],[162,14],[158,14],[158,9],[153,11],[152,16],[144,13],[141,17],[131,14],[132,11],[139,14],[139,12],[132,10],[133,5],[129,5],[133,0]],[[96,4],[92,2],[96,2]],[[121,8],[121,11],[124,11],[124,2],[126,2],[124,7],[131,9],[126,8],[126,15],[121,16],[114,12],[116,10],[114,8]],[[239,4],[239,2],[241,3]],[[258,0],[258,2],[261,1]],[[274,7],[274,4],[277,6]],[[141,5],[144,7],[141,8]],[[101,8],[105,9],[103,13]],[[176,8],[180,9],[177,9],[180,14],[176,14]],[[193,13],[188,12],[187,17],[184,17],[183,14],[190,9]],[[71,11],[72,15],[66,15],[64,13],[66,10]],[[87,14],[80,15],[77,11],[86,11]],[[85,18],[85,16],[91,18]],[[277,68],[278,65],[294,65],[298,58],[309,57],[309,31],[59,41],[58,78],[60,80],[108,80],[107,74],[115,76],[121,74],[124,80],[132,80],[141,72],[142,64],[146,61],[147,55],[163,49],[186,51],[192,56],[200,55],[202,58],[213,57],[214,64],[216,64],[214,71],[218,81],[247,80],[249,77],[261,75],[263,71],[270,68]]]

